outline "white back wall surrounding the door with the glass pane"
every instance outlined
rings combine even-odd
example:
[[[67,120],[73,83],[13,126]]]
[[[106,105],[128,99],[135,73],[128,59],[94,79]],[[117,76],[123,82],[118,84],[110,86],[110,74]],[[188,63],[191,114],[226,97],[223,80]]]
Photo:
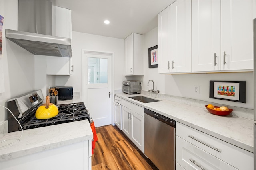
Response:
[[[70,86],[74,92],[82,94],[82,49],[114,53],[114,89],[122,88],[124,78],[124,39],[104,37],[72,31],[72,64],[71,76],[56,76],[56,86]]]

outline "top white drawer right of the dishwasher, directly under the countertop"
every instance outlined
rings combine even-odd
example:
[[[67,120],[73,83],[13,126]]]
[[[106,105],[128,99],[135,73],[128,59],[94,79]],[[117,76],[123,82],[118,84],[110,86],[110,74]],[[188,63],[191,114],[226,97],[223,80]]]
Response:
[[[176,135],[240,170],[253,169],[253,153],[247,150],[179,122],[176,122]]]

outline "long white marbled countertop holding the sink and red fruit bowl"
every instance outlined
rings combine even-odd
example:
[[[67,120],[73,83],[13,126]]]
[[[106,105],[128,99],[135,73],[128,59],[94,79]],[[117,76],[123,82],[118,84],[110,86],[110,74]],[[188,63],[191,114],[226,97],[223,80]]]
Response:
[[[143,94],[129,95],[116,93],[115,96],[155,111],[249,152],[254,152],[253,125],[256,123],[254,120],[237,117],[232,115],[232,113],[228,116],[213,115],[205,108],[154,98]],[[142,103],[128,98],[131,96],[146,96],[161,101]]]

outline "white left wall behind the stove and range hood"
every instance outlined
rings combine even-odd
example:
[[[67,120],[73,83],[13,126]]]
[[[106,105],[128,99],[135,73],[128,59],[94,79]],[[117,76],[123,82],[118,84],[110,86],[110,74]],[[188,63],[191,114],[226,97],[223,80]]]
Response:
[[[8,99],[35,90],[35,68],[34,55],[5,38],[5,29],[18,29],[18,0],[1,0],[0,15],[4,17],[0,57],[4,92],[0,93],[0,105],[7,106]],[[0,122],[4,120],[4,111],[1,107]]]

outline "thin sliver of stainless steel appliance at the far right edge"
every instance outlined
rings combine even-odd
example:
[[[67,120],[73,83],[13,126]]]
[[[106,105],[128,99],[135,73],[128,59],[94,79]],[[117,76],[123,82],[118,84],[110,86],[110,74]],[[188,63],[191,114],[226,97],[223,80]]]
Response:
[[[256,18],[253,20],[253,51],[254,51],[254,120],[256,121]],[[256,169],[256,124],[254,124],[254,169]]]

